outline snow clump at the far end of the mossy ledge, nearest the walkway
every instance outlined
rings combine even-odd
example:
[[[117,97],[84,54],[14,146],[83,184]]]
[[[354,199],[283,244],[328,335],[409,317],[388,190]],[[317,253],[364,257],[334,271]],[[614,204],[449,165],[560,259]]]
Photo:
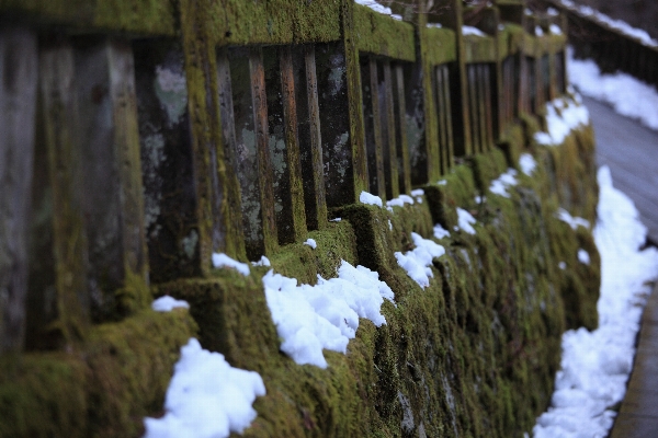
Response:
[[[589,112],[576,96],[575,101],[558,97],[546,104],[547,132],[535,132],[534,138],[540,145],[561,145],[572,129],[589,125]]]

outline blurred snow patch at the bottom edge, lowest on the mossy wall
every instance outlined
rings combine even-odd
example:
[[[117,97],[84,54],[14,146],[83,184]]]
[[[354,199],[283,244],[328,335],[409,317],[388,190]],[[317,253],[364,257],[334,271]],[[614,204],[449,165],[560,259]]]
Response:
[[[258,372],[232,368],[219,353],[191,338],[181,348],[167,389],[162,418],[145,418],[145,438],[224,438],[256,418],[251,404],[265,395]]]

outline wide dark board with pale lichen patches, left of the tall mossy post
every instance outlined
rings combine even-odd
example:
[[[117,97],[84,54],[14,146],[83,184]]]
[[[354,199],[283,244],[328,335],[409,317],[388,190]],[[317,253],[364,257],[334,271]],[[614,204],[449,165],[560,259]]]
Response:
[[[184,55],[173,38],[133,43],[151,283],[203,274]]]

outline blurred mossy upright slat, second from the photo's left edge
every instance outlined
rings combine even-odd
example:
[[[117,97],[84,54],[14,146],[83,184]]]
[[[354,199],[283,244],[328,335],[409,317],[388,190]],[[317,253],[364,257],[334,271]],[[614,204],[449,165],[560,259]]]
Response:
[[[76,145],[79,114],[73,48],[49,35],[39,44],[39,126],[31,245],[27,349],[55,349],[84,337],[90,325],[88,242]],[[44,254],[50,254],[45,257]]]

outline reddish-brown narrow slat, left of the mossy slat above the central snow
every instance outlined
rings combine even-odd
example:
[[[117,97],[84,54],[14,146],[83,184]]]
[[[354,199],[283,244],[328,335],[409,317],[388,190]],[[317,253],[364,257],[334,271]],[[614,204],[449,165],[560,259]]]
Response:
[[[265,71],[260,47],[249,50],[251,100],[253,103],[253,128],[256,134],[256,162],[258,168],[263,246],[265,255],[277,247],[276,216],[274,210],[273,171],[270,155],[270,129],[268,127],[268,96]]]

